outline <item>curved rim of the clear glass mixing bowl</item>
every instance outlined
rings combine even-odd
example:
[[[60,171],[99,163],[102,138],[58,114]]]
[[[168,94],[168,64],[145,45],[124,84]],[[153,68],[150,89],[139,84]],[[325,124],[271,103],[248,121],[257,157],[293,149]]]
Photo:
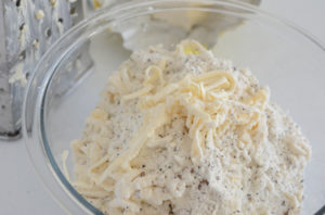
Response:
[[[197,2],[203,3],[203,5],[184,5],[187,3]],[[167,7],[166,3],[169,3],[169,5]],[[171,8],[173,4],[180,4],[181,7]],[[206,5],[209,5],[209,8],[205,8]],[[35,172],[37,173],[48,191],[52,194],[53,199],[56,200],[56,202],[68,213],[73,212],[73,214],[103,214],[94,206],[92,206],[88,201],[86,201],[65,178],[64,174],[61,172],[58,165],[56,164],[54,156],[52,155],[44,131],[44,110],[42,108],[44,106],[44,98],[49,89],[49,85],[51,84],[53,74],[55,73],[55,68],[60,64],[62,59],[64,59],[64,56],[72,51],[74,46],[83,42],[86,39],[78,38],[75,39],[74,42],[68,41],[72,40],[72,38],[77,38],[79,34],[89,30],[88,28],[94,28],[94,26],[98,26],[98,28],[100,29],[103,21],[104,23],[108,23],[122,21],[123,18],[130,18],[130,12],[135,11],[135,13],[143,15],[171,9],[216,11],[216,9],[210,9],[211,5],[230,7],[235,10],[243,10],[245,13],[252,13],[255,15],[259,14],[265,20],[276,22],[283,27],[298,33],[315,47],[325,52],[325,46],[306,29],[255,5],[234,0],[134,1],[118,4],[117,7],[109,8],[108,10],[106,8],[96,11],[92,16],[84,18],[79,24],[67,30],[58,40],[56,40],[56,42],[51,46],[51,48],[40,59],[26,88],[23,104],[22,129],[29,160],[32,163]],[[92,34],[95,35],[96,31],[89,33],[87,36],[91,37]],[[53,63],[49,65],[48,62]]]

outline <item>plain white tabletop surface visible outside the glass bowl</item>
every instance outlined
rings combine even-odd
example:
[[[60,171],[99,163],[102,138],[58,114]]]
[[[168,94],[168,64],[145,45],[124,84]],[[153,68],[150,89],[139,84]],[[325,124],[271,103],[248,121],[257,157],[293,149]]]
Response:
[[[261,8],[292,21],[325,43],[325,0],[262,0]],[[0,214],[65,214],[34,172],[22,140],[0,141]]]

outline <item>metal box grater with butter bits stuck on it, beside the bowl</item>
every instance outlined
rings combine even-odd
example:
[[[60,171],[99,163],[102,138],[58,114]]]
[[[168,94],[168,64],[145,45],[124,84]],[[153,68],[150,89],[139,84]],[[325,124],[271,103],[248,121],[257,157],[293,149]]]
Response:
[[[20,137],[22,103],[27,79],[49,47],[82,18],[81,3],[76,0],[0,1],[1,139]],[[77,59],[80,59],[79,71],[86,72],[82,67],[87,68],[92,64],[87,50],[81,50],[75,60]],[[67,69],[74,69],[74,64]],[[66,79],[74,81],[74,78],[78,77]],[[68,88],[69,84],[62,83],[63,89]]]

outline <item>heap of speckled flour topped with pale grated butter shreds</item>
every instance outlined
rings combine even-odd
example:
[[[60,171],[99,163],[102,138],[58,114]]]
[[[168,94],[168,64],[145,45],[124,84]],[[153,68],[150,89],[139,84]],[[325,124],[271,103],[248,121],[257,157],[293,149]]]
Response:
[[[194,40],[134,52],[72,143],[105,214],[299,214],[310,147],[248,69]]]

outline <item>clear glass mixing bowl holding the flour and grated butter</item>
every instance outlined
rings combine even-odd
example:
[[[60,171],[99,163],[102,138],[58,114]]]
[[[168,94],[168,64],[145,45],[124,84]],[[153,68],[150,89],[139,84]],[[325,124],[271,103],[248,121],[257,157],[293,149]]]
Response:
[[[198,20],[190,27],[170,18],[159,21],[159,25],[151,22],[159,20],[159,14],[196,14],[192,16]],[[217,22],[205,21],[206,16]],[[205,26],[204,35],[193,37],[206,39],[211,46],[218,36],[216,54],[233,60],[237,66],[249,66],[262,84],[270,86],[271,99],[301,125],[313,149],[304,179],[303,214],[313,214],[325,204],[325,48],[299,27],[255,7],[178,0],[129,3],[100,11],[70,29],[39,62],[25,99],[24,138],[43,184],[69,213],[101,214],[68,182],[61,154],[69,150],[73,139],[80,137],[109,73],[131,53],[112,29],[123,31],[126,47],[161,42],[172,47],[200,26]],[[75,59],[84,47],[90,48],[93,66],[87,68],[88,75],[76,79],[81,68],[72,69],[72,62],[73,68],[78,67]],[[67,168],[73,175],[72,155]]]

